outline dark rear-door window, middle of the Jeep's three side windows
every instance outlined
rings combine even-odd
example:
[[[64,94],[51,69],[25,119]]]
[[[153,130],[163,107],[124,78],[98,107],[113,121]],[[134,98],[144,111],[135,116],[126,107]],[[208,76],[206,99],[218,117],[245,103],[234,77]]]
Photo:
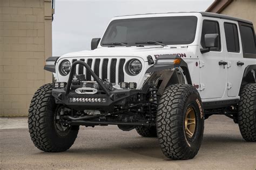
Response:
[[[228,52],[239,52],[239,39],[237,25],[232,23],[224,23],[225,37]]]

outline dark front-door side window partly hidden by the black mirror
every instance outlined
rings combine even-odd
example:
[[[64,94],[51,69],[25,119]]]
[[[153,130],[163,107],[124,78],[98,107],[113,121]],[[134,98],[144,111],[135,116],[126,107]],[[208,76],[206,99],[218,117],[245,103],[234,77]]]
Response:
[[[217,21],[204,20],[202,35],[201,35],[201,46],[205,48],[205,35],[207,33],[218,33],[219,34],[219,46],[216,49],[211,49],[211,51],[220,51],[220,29],[219,23]]]

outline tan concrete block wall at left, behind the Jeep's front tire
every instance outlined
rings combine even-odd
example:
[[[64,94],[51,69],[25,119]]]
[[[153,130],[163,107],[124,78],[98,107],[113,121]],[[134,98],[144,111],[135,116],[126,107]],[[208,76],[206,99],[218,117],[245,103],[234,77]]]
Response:
[[[50,9],[50,10],[49,10]],[[0,0],[0,116],[28,115],[51,56],[51,1]]]

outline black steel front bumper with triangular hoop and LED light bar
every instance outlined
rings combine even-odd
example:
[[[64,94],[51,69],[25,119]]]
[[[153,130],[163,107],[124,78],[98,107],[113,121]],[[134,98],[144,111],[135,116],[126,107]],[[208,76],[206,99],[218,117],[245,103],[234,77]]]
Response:
[[[103,90],[103,94],[77,94],[74,90],[70,90],[71,82],[76,65],[83,65],[86,71],[89,71],[91,76],[97,81],[98,85]],[[113,89],[111,86],[101,80],[91,69],[87,63],[76,61],[70,69],[69,80],[65,88],[53,89],[52,96],[55,97],[56,103],[67,105],[77,110],[97,109],[97,110],[113,110],[115,105],[125,106],[133,96],[138,96],[141,90],[133,89]],[[98,100],[100,99],[100,101]]]

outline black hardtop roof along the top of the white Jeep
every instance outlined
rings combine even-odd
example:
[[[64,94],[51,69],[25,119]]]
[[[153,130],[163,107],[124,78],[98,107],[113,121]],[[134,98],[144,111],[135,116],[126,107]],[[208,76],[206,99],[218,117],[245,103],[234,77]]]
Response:
[[[222,14],[213,13],[213,12],[167,12],[167,13],[201,13],[201,15],[203,17],[213,17],[213,18],[227,19],[227,20],[252,24],[251,21],[247,21],[245,19],[231,17],[231,16],[228,16],[228,15],[222,15]],[[144,13],[144,14],[136,14],[136,15],[152,15],[152,14],[161,14],[161,13]],[[124,16],[136,16],[136,15],[124,15]],[[118,16],[118,17],[124,17],[124,16]]]

